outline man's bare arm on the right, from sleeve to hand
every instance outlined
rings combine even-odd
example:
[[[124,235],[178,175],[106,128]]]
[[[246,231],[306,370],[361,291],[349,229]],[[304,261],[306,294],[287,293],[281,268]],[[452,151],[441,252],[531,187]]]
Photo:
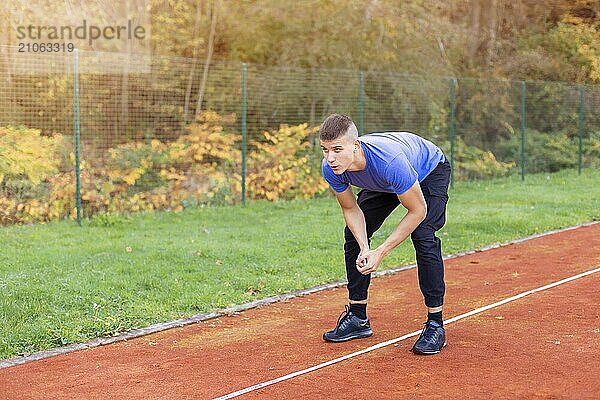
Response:
[[[421,192],[421,186],[418,181],[406,192],[398,195],[398,198],[408,212],[379,247],[359,256],[356,264],[362,274],[370,274],[377,270],[383,258],[402,243],[427,215],[427,203],[425,203],[425,198],[423,197],[423,192]]]

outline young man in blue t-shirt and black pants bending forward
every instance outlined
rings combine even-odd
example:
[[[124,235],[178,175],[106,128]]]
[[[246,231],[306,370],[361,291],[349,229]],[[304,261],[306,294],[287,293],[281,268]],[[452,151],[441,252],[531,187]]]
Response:
[[[416,251],[419,286],[427,322],[412,348],[436,354],[446,345],[443,328],[444,262],[435,236],[446,221],[450,164],[433,143],[409,132],[372,133],[358,137],[352,120],[332,114],[321,125],[323,176],[334,190],[346,220],[344,253],[349,306],[335,329],[323,339],[343,342],[371,336],[367,292],[371,273],[409,235]],[[362,190],[358,198],[350,185]],[[402,204],[407,213],[376,249],[371,236]]]

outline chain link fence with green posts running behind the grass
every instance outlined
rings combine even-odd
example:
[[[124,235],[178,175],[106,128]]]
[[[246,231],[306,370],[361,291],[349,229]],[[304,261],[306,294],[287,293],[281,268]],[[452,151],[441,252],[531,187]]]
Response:
[[[0,224],[327,193],[333,112],[434,141],[455,183],[600,166],[599,85],[6,46],[0,78]]]

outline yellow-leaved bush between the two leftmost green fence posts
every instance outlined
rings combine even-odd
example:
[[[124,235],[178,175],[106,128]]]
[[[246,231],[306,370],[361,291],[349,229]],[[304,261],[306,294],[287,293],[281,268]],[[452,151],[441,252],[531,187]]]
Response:
[[[150,140],[109,149],[108,162],[94,168],[98,179],[84,185],[86,214],[233,203],[241,191],[239,135],[223,126],[234,122],[233,115],[205,112],[174,142]]]

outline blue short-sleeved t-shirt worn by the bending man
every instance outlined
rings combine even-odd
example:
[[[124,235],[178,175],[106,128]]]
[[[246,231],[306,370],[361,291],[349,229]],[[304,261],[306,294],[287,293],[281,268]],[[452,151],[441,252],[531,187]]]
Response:
[[[445,160],[439,147],[410,132],[371,133],[358,140],[367,161],[362,171],[336,175],[323,159],[323,177],[338,193],[354,185],[376,192],[403,194],[417,179],[423,181]]]

